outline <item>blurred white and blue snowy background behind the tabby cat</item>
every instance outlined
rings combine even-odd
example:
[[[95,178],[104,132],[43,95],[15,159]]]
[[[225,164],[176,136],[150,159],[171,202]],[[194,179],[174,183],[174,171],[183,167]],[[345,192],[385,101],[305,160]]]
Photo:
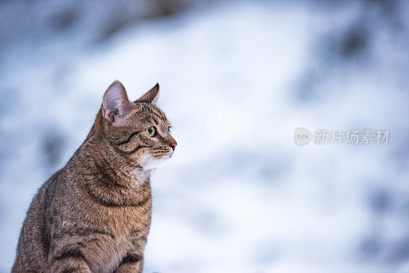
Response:
[[[116,79],[159,82],[145,272],[409,272],[407,2],[1,2],[0,272]],[[299,147],[294,130],[389,129]]]

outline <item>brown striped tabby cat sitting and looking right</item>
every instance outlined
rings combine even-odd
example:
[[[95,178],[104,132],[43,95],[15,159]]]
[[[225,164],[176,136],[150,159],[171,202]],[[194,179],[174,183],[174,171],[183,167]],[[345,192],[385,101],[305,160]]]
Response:
[[[108,87],[85,141],[35,195],[12,272],[142,272],[151,172],[176,147],[158,93],[130,102],[121,82]]]

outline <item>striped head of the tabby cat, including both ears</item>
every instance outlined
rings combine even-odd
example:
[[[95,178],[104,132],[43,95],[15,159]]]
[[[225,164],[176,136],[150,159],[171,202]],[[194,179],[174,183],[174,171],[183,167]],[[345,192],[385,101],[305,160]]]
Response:
[[[107,144],[121,157],[143,169],[171,157],[176,141],[170,135],[170,123],[156,107],[156,84],[134,102],[129,101],[121,82],[106,89],[101,106],[103,135]]]

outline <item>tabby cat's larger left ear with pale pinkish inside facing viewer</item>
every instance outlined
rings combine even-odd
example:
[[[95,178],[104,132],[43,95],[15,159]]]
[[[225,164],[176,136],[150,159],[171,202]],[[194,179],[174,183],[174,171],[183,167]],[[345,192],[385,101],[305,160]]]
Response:
[[[131,104],[122,83],[120,81],[112,82],[102,99],[102,116],[110,122],[114,122],[118,118],[123,119],[129,114]]]

